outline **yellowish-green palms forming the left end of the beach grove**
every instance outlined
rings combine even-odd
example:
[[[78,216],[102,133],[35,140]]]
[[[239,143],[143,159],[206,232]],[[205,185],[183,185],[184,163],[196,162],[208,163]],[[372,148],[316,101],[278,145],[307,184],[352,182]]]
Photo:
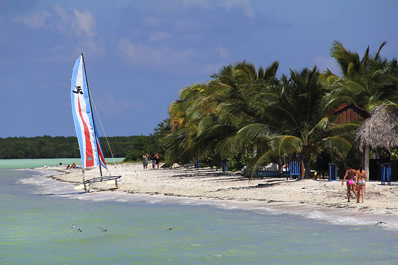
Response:
[[[229,140],[256,115],[253,98],[257,88],[274,80],[277,69],[278,62],[258,71],[251,63],[237,62],[212,75],[208,84],[182,90],[180,99],[170,106],[173,133],[163,139],[169,146],[166,156],[169,164],[178,154],[188,154],[191,159],[210,156],[217,163],[231,151],[257,150],[250,140]],[[234,142],[234,147],[219,152],[220,146],[228,141]]]

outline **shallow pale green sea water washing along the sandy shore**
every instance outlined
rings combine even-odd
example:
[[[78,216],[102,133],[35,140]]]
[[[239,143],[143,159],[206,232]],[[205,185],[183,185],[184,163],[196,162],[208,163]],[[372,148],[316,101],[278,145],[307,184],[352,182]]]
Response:
[[[30,162],[34,166],[28,168],[49,164]],[[398,233],[374,224],[336,225],[184,198],[84,193],[43,177],[48,172],[15,168],[0,168],[1,265],[397,264],[398,260]]]

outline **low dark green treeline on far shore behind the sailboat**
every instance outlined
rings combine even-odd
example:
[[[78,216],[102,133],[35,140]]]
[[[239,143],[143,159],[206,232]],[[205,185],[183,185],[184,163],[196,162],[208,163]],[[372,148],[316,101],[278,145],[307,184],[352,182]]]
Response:
[[[107,137],[113,157],[125,157],[127,161],[142,158],[144,151],[157,151],[163,156],[159,138],[167,131],[165,122],[154,129],[153,134],[136,136]],[[105,157],[112,157],[105,137],[100,137]],[[74,136],[36,136],[36,137],[0,137],[0,159],[40,159],[40,158],[80,158],[79,143]]]

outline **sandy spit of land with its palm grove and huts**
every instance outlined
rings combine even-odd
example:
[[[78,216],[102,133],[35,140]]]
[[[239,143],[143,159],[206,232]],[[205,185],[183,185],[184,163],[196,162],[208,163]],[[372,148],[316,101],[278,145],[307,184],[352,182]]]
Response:
[[[349,162],[354,168],[360,163],[366,166],[372,156],[396,165],[398,66],[395,58],[380,56],[384,45],[374,54],[368,47],[360,59],[334,42],[331,56],[342,77],[313,67],[278,78],[278,62],[258,70],[245,61],[224,66],[210,81],[181,90],[179,99],[171,103],[170,117],[159,128],[158,143],[164,150],[158,152],[164,162],[159,169],[131,163],[133,156],[127,153],[123,164],[108,167],[123,176],[121,186],[96,182],[92,190],[290,213],[319,210],[364,221],[382,218],[397,228],[396,183],[368,181],[362,204],[355,203],[353,193],[347,203],[341,181]],[[144,151],[150,152],[147,148],[135,152],[140,156]],[[340,181],[329,181],[327,172],[322,178],[314,176],[321,153],[337,165],[333,180]],[[286,159],[298,162],[296,179],[283,175]],[[229,165],[228,171],[220,170],[222,162]],[[258,173],[269,163],[278,164],[280,175],[260,177]],[[244,165],[249,174],[242,176]],[[380,169],[378,164],[373,166]],[[51,177],[77,188],[82,183],[81,169],[47,170],[58,171]],[[374,175],[377,179],[378,173]],[[86,169],[85,176],[98,176],[98,168]]]

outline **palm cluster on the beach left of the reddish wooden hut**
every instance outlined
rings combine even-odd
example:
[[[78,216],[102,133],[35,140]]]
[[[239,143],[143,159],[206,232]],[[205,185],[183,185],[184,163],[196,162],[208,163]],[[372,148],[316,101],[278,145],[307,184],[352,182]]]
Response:
[[[259,151],[250,164],[254,172],[298,153],[301,177],[309,177],[311,154],[327,149],[344,157],[351,149],[350,132],[359,125],[336,125],[328,115],[350,99],[347,90],[327,90],[316,67],[291,70],[290,78],[280,80],[277,69],[277,62],[258,71],[238,62],[223,67],[208,84],[182,90],[170,106],[174,129],[164,138],[168,161],[181,154],[217,160],[252,148]]]

